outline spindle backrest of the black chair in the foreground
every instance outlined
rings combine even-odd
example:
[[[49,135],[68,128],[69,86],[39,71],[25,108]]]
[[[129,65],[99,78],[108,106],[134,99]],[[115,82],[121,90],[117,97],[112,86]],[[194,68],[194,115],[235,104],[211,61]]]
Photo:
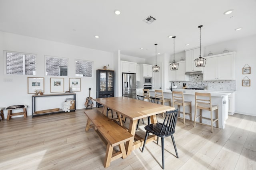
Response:
[[[160,134],[163,135],[163,137],[170,136],[175,132],[178,112],[179,108],[172,111],[166,111],[166,116],[160,130]]]

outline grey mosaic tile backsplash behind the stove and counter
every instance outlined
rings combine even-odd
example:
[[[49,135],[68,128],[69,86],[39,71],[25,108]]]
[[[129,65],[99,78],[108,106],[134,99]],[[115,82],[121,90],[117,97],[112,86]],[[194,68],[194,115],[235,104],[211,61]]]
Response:
[[[236,80],[204,81],[203,74],[191,74],[189,75],[189,81],[174,83],[178,89],[181,89],[183,83],[186,83],[187,88],[206,88],[207,86],[207,90],[236,91]]]

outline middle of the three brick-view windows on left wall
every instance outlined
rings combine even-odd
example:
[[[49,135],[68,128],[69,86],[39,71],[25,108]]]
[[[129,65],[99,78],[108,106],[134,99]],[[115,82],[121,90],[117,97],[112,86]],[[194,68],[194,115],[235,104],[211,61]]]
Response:
[[[68,59],[45,56],[46,76],[67,76]]]

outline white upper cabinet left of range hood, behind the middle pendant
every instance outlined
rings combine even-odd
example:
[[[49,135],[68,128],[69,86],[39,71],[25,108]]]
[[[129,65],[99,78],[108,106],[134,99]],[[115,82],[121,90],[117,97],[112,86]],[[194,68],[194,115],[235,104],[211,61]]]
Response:
[[[169,81],[188,81],[189,76],[185,74],[186,72],[186,61],[178,61],[178,70],[169,69]]]

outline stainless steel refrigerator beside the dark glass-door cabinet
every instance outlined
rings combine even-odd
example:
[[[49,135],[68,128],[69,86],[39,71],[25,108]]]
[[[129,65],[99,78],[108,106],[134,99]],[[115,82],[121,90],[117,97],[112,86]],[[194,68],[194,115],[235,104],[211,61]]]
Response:
[[[135,73],[122,73],[122,96],[136,99]]]

